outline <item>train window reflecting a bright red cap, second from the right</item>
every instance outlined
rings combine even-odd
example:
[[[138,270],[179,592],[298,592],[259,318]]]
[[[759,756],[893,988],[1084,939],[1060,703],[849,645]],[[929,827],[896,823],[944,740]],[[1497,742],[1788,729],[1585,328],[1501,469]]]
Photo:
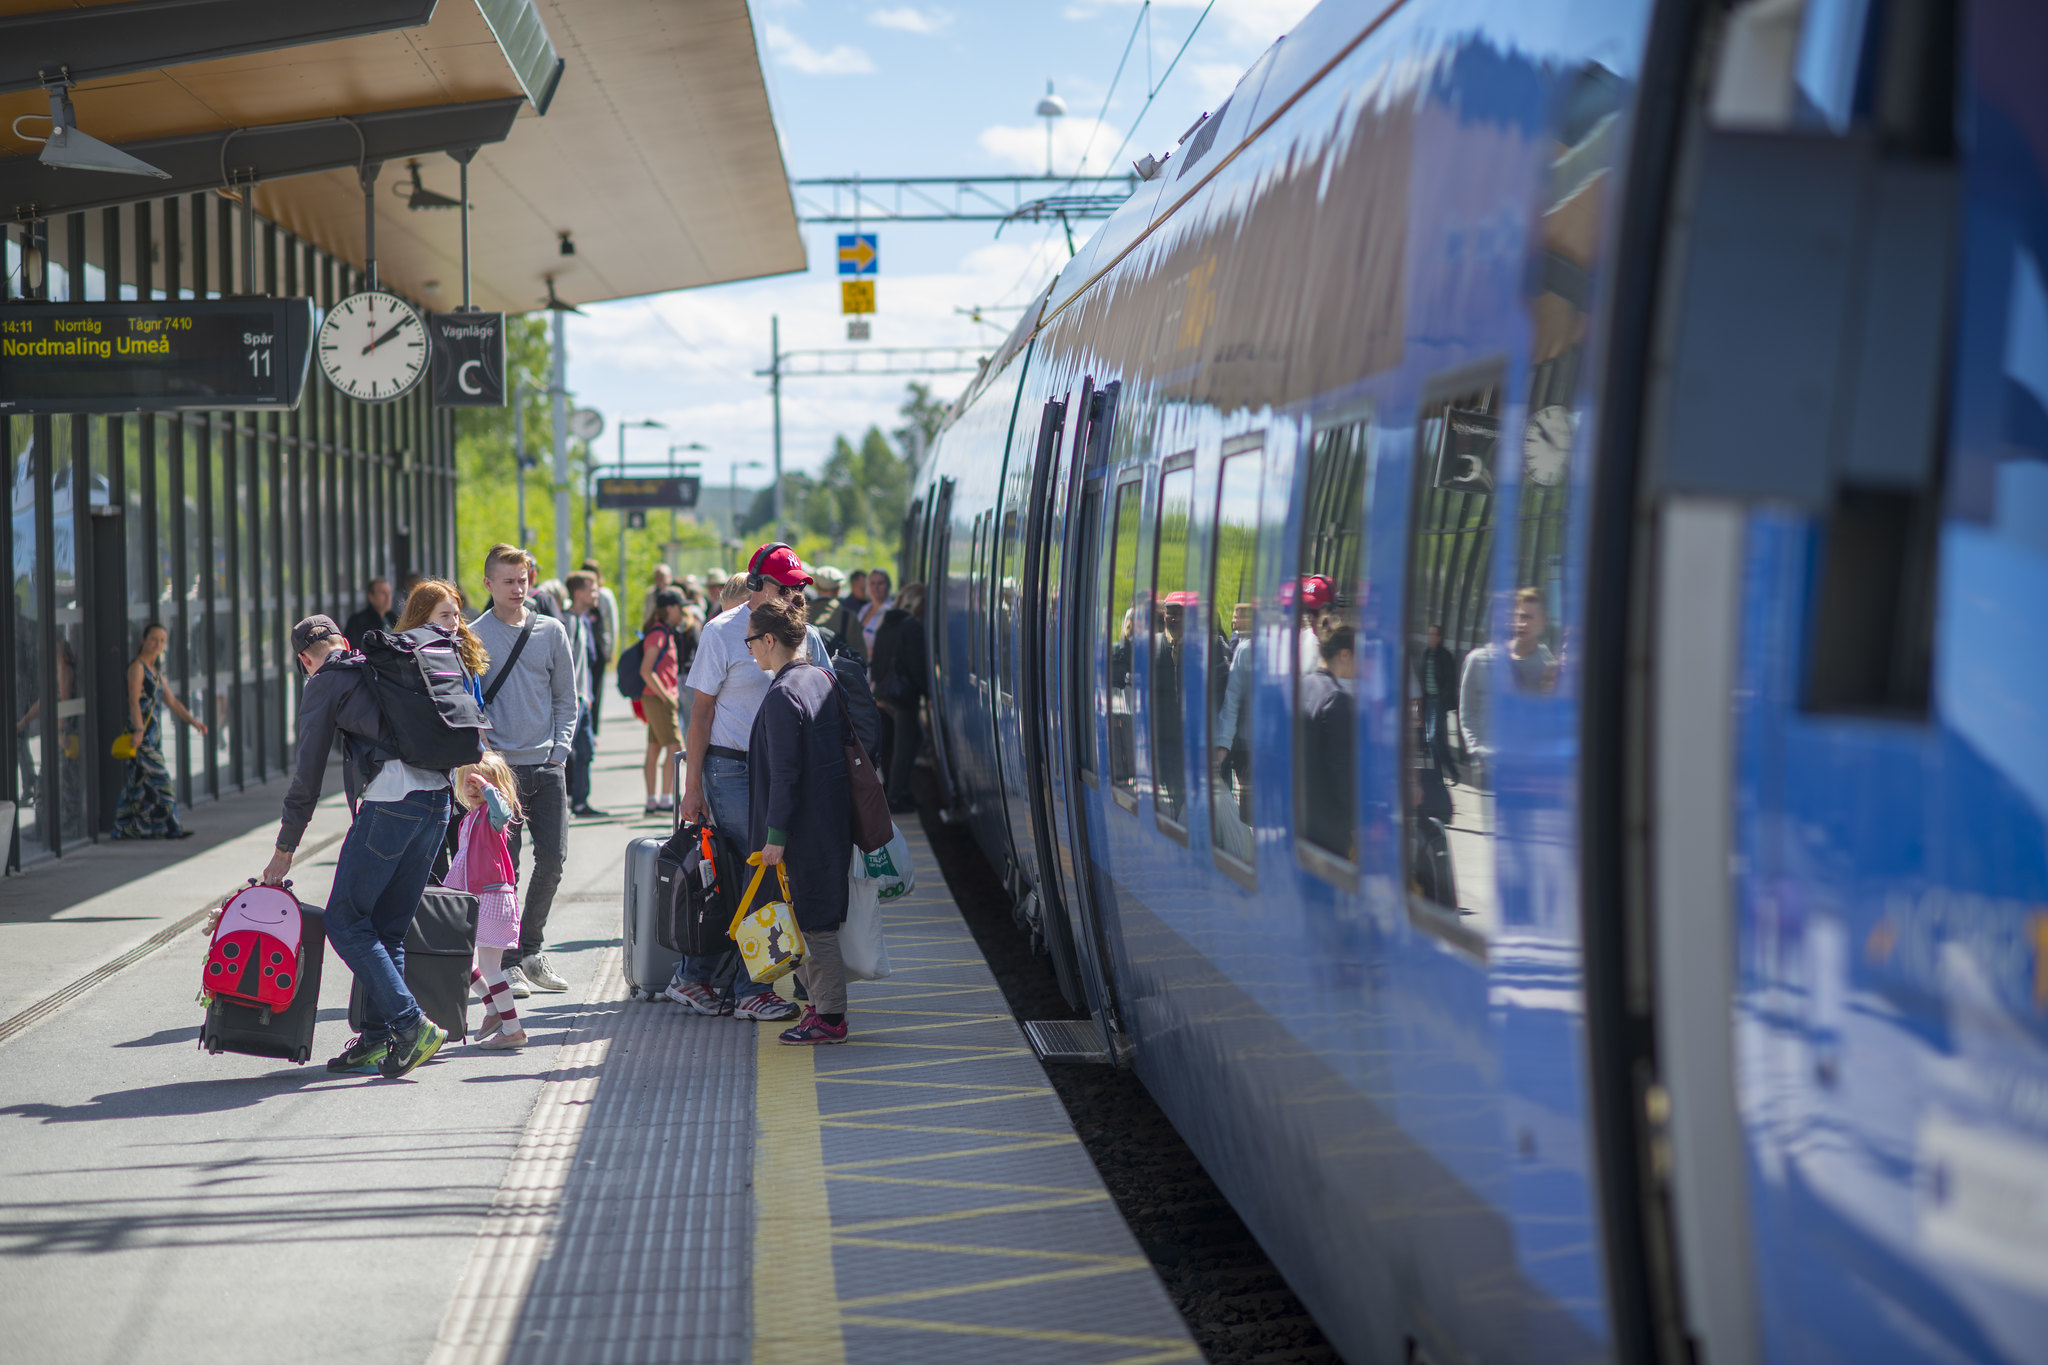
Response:
[[[1358,868],[1370,428],[1370,420],[1325,426],[1309,440],[1300,571],[1280,593],[1294,612],[1294,849],[1311,872],[1346,886]]]

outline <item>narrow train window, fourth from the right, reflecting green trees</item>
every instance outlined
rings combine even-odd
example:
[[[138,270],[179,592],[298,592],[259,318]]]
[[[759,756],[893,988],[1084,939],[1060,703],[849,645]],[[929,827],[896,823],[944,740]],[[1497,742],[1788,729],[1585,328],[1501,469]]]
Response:
[[[1188,661],[1202,628],[1202,593],[1188,557],[1194,516],[1194,452],[1171,456],[1159,473],[1153,510],[1151,610],[1151,769],[1153,819],[1186,837],[1188,825]]]

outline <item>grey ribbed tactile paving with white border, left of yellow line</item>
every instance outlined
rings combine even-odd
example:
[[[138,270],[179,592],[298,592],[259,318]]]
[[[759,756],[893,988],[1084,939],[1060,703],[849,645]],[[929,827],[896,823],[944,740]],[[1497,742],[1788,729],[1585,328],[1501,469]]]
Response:
[[[625,999],[610,950],[432,1365],[741,1363],[758,1025]]]

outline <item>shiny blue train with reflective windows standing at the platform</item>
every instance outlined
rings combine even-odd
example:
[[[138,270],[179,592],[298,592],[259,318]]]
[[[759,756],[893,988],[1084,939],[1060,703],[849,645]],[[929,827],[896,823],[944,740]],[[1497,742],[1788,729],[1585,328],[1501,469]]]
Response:
[[[1348,1359],[2048,1359],[2044,57],[1327,0],[928,450],[1034,1038]]]

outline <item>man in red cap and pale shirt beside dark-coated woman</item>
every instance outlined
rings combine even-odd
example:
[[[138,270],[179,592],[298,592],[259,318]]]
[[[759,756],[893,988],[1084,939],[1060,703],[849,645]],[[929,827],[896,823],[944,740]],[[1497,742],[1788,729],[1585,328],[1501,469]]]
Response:
[[[684,739],[682,794],[676,798],[682,819],[700,821],[707,810],[719,833],[743,853],[748,831],[748,743],[754,737],[754,712],[768,696],[774,679],[762,671],[748,651],[748,622],[754,608],[774,598],[803,598],[811,571],[786,544],[764,544],[748,561],[748,598],[721,612],[696,636],[696,661],[686,686],[696,692],[690,704],[690,731]],[[700,1015],[721,1013],[719,993],[711,978],[717,958],[684,958],[676,980],[664,993],[678,1005]],[[795,1019],[797,1007],[756,980],[741,976],[733,1015],[741,1019]]]

